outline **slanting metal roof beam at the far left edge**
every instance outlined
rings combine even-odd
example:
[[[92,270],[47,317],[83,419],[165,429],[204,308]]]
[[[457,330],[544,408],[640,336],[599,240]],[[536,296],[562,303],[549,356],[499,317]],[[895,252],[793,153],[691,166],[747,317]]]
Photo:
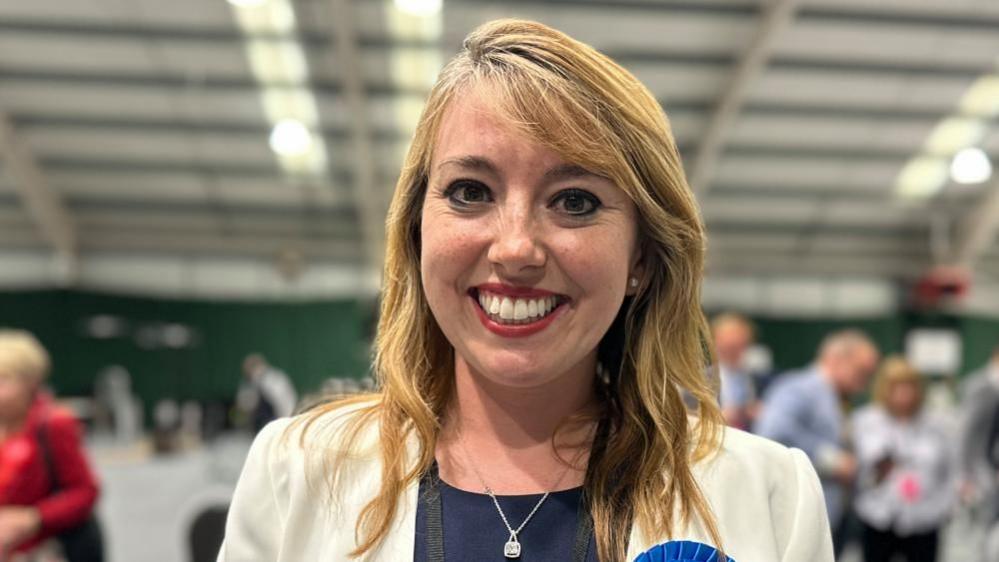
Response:
[[[79,275],[79,254],[72,216],[59,194],[49,186],[35,155],[4,111],[0,111],[0,159],[39,233],[60,258],[65,281],[74,283]]]

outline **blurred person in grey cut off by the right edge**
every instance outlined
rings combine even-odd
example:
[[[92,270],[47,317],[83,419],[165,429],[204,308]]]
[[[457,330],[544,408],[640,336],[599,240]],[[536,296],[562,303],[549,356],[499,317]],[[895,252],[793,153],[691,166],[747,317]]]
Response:
[[[967,376],[962,394],[959,492],[988,529],[986,559],[999,561],[999,346]]]

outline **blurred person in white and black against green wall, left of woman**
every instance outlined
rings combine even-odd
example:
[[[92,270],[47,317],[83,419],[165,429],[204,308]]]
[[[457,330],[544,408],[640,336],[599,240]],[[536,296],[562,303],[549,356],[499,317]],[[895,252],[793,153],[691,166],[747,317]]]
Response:
[[[236,405],[249,415],[254,433],[277,418],[290,416],[297,403],[298,393],[288,375],[259,353],[246,356]]]

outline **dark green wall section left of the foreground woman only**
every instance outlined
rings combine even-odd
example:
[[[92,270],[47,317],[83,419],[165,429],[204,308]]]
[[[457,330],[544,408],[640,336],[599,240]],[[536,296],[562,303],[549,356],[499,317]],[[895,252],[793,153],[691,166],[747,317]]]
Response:
[[[299,393],[332,376],[360,377],[368,369],[373,303],[322,301],[240,303],[111,296],[80,291],[0,293],[0,326],[34,332],[53,357],[50,383],[60,394],[89,394],[95,375],[122,365],[147,405],[161,397],[231,399],[243,357],[263,353],[285,370]],[[87,318],[111,314],[132,332],[152,323],[194,329],[188,349],[143,349],[132,337],[97,340]]]

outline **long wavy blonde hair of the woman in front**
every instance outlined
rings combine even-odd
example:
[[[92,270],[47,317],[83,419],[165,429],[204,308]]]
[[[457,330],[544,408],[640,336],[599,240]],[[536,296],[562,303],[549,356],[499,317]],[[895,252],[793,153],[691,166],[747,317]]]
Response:
[[[346,449],[327,452],[331,486],[364,429],[377,422],[381,489],[356,523],[353,555],[380,543],[403,491],[431,466],[452,397],[454,351],[420,281],[421,209],[445,110],[481,86],[488,93],[480,101],[494,115],[606,176],[638,210],[644,272],[598,349],[612,382],[601,387],[606,433],[591,451],[584,488],[600,559],[624,560],[633,521],[646,537],[671,535],[676,515],[681,524],[696,517],[721,546],[692,472],[717,450],[723,425],[705,376],[704,229],[668,121],[634,76],[588,45],[539,23],[498,20],[474,30],[442,70],[396,185],[375,340],[381,392],[328,404],[306,418],[308,429],[328,413],[353,412],[345,415]],[[681,389],[698,403],[696,422],[688,419]],[[419,443],[415,460],[410,437]]]

